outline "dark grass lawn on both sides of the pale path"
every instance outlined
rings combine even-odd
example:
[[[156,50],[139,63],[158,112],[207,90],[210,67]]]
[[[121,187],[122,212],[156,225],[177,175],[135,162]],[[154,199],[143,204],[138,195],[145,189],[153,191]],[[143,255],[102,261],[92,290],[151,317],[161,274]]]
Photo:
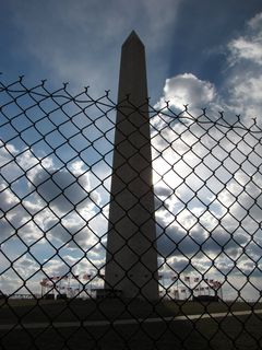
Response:
[[[53,328],[50,322],[150,318],[262,308],[262,304],[139,301],[19,301],[0,304],[0,324],[47,322],[44,329],[1,330],[0,349],[261,349],[262,315],[155,324]],[[32,347],[32,345],[34,345]]]

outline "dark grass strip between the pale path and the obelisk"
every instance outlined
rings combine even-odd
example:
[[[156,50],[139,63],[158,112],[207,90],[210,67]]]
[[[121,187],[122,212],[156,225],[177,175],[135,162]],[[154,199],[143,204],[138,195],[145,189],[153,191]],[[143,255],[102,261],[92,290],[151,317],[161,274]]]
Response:
[[[250,311],[262,303],[162,301],[155,304],[138,300],[9,300],[0,303],[0,324],[26,322],[74,322],[98,319],[150,318],[203,313]]]

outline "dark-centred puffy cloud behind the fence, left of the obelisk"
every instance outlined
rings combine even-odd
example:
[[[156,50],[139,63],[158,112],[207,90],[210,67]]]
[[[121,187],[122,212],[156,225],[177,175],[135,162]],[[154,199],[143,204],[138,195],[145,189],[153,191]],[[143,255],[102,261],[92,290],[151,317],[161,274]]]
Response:
[[[16,230],[25,244],[40,240],[48,246],[48,237],[57,247],[86,249],[97,243],[96,235],[105,231],[105,219],[100,218],[100,225],[96,222],[100,195],[92,188],[82,161],[71,162],[67,170],[56,168],[51,158],[47,161],[44,155],[41,162],[12,144],[2,145],[0,159],[7,178],[0,185],[1,242],[8,242]]]

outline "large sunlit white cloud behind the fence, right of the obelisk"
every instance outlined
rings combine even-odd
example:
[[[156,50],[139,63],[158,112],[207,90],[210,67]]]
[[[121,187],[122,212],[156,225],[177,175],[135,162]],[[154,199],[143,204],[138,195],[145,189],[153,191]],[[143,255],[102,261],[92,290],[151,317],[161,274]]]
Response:
[[[258,138],[167,115],[154,124],[152,140],[159,254],[175,273],[231,273],[247,281],[260,272]],[[226,295],[238,285],[227,285]]]

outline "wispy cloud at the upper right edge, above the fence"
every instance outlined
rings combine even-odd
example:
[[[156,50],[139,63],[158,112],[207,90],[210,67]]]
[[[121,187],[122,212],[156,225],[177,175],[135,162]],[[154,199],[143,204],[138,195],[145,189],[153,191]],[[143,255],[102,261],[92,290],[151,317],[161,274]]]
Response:
[[[228,44],[226,103],[230,110],[261,122],[262,13],[251,19],[243,35]]]

